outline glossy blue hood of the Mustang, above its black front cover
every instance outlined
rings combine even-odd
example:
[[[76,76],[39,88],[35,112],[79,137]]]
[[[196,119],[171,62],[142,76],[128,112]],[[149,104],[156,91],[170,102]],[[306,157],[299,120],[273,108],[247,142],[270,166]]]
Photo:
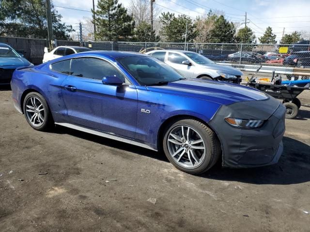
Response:
[[[198,98],[229,105],[236,102],[267,100],[267,94],[251,87],[201,79],[184,79],[164,86],[148,86],[151,91]]]

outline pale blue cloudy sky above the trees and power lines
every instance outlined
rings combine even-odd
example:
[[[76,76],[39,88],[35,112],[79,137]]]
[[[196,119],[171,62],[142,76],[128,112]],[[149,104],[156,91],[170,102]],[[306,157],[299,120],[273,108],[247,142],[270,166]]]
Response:
[[[95,4],[96,4],[95,0]],[[70,10],[61,7],[55,9],[62,14],[62,22],[71,24],[76,28],[83,17],[91,17],[93,0],[52,0],[55,6],[81,9],[84,11]],[[124,7],[128,7],[130,0],[119,0]],[[155,7],[162,13],[173,12],[191,17],[203,16],[210,9],[225,13],[225,18],[233,22],[245,22],[247,12],[247,26],[256,37],[263,35],[266,27],[270,26],[277,35],[276,40],[284,33],[295,30],[305,31],[304,39],[310,39],[310,0],[155,0]],[[305,10],[308,9],[308,10]],[[240,25],[240,28],[244,24]]]

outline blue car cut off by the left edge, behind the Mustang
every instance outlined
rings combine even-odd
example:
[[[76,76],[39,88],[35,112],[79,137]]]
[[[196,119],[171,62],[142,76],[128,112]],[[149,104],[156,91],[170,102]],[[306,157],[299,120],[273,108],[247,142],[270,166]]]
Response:
[[[14,70],[20,66],[31,66],[31,62],[19,55],[12,47],[0,43],[0,85],[10,84]]]

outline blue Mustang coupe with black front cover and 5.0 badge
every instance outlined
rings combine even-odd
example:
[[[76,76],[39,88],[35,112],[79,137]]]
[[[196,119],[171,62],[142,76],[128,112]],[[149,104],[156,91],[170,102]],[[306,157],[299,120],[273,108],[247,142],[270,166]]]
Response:
[[[285,107],[250,87],[183,75],[156,58],[92,51],[17,69],[14,106],[29,125],[53,124],[163,151],[178,169],[201,174],[276,163]],[[121,144],[120,144],[121,146]]]

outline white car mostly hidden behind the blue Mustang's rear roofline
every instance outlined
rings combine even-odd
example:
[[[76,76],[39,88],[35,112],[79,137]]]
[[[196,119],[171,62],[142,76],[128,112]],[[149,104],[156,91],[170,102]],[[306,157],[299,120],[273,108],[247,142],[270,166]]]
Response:
[[[52,59],[87,51],[91,51],[91,49],[87,47],[78,47],[78,46],[59,46],[54,48],[52,51],[48,52],[47,47],[45,47],[43,63]]]

